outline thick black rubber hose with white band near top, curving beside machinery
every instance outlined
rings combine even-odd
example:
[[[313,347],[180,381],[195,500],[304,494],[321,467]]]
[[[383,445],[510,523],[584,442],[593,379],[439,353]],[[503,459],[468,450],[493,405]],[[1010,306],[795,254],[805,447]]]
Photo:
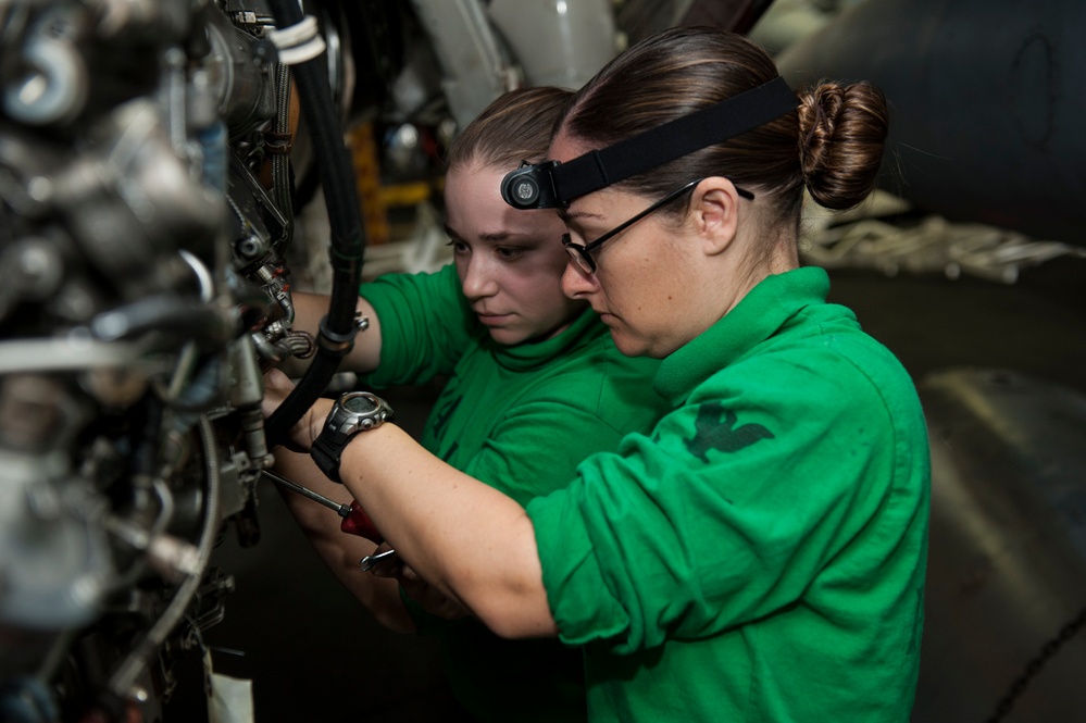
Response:
[[[302,22],[298,0],[270,0],[278,28]],[[286,441],[287,433],[324,392],[354,341],[354,309],[362,278],[365,238],[360,222],[358,189],[350,154],[344,144],[339,116],[332,101],[324,53],[292,66],[301,111],[313,135],[321,185],[330,228],[332,300],[321,323],[317,350],[298,386],[265,422],[269,448]]]

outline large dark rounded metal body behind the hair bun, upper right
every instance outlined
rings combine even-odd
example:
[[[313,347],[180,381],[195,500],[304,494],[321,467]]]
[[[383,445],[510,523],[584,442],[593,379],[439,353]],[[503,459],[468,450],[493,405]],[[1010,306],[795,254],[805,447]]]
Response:
[[[794,85],[862,78],[886,92],[886,190],[952,221],[1083,246],[1084,26],[1073,0],[869,0],[778,65]]]

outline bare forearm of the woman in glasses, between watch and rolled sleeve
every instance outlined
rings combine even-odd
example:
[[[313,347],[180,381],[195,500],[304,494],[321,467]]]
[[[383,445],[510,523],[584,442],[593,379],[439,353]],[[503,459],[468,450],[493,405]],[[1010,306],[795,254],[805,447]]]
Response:
[[[532,522],[511,498],[390,424],[355,435],[340,476],[400,557],[496,633],[557,633]]]

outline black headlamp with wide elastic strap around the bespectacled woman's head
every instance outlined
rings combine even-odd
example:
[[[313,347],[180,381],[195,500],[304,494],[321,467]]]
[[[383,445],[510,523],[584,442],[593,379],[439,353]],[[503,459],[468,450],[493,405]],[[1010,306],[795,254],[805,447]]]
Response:
[[[566,163],[546,161],[521,166],[502,178],[501,197],[514,209],[562,209],[575,198],[753,130],[792,112],[798,104],[796,94],[778,76]]]

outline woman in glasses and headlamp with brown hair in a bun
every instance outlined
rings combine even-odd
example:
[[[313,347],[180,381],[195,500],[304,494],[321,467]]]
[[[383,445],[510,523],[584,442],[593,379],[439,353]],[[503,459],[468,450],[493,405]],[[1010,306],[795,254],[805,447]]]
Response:
[[[526,510],[394,425],[341,457],[430,584],[500,635],[583,646],[594,721],[909,719],[924,417],[797,252],[804,188],[834,209],[873,189],[886,105],[866,84],[797,96],[776,76],[741,37],[666,30],[578,91],[553,163],[517,172],[566,222],[566,295],[623,353],[663,360],[652,386],[673,411],[650,434]]]

